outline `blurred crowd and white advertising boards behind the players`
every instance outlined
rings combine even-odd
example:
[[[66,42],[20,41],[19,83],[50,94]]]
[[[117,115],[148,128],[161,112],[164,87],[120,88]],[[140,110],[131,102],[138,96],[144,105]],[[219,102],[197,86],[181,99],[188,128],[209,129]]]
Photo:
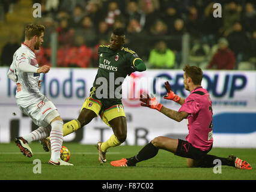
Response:
[[[222,5],[221,18],[213,17],[214,2]],[[41,5],[39,18],[33,17],[34,3]],[[123,26],[127,29],[126,46],[135,50],[148,67],[144,73],[134,73],[133,79],[150,79],[148,89],[158,100],[164,92],[164,80],[171,82],[177,94],[186,97],[188,92],[181,86],[182,68],[185,64],[198,65],[204,70],[203,86],[213,100],[214,145],[255,148],[255,1],[13,0],[1,1],[0,18],[0,142],[11,142],[17,134],[36,128],[16,106],[15,84],[6,74],[14,51],[23,41],[26,23],[42,23],[46,32],[37,59],[40,64],[53,67],[41,77],[42,91],[66,121],[77,118],[89,94],[97,73],[97,47],[108,43],[114,26]],[[209,68],[220,38],[225,38],[221,42],[228,42],[233,52],[228,55],[229,65]],[[131,86],[129,81],[125,84],[137,93],[147,88],[142,85],[138,89],[136,83]],[[178,109],[177,104],[161,101]],[[155,136],[183,138],[187,134],[186,121],[177,124],[160,113],[142,109],[138,99],[124,99],[124,109],[128,120],[126,144],[144,145]],[[152,116],[157,120],[153,121]],[[94,144],[111,133],[98,118],[65,140]]]

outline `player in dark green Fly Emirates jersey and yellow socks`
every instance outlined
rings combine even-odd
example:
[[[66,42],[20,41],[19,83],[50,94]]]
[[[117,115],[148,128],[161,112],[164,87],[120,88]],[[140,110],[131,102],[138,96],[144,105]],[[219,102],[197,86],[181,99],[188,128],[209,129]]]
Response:
[[[123,47],[123,28],[116,28],[111,34],[110,44],[99,46],[99,69],[78,119],[64,124],[63,134],[72,133],[87,125],[98,115],[112,128],[114,134],[106,142],[98,142],[100,163],[106,163],[106,150],[126,140],[127,123],[121,101],[121,85],[124,78],[135,71],[145,71],[146,66],[138,54]],[[46,148],[46,143],[44,143]]]

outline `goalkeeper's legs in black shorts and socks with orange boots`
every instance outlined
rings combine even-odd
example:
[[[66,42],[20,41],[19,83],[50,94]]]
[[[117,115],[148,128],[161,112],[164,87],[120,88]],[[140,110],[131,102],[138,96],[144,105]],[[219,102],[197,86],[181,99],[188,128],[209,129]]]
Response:
[[[180,157],[187,158],[188,167],[214,167],[214,160],[221,160],[222,166],[236,167],[237,169],[250,170],[250,164],[240,158],[230,155],[227,158],[217,157],[215,155],[208,155],[209,151],[200,151],[194,148],[189,142],[181,139],[171,139],[168,137],[156,137],[150,143],[144,146],[137,155],[130,158],[122,158],[121,160],[111,161],[114,167],[129,167],[136,166],[141,161],[148,160],[157,155],[159,149],[172,152]]]

